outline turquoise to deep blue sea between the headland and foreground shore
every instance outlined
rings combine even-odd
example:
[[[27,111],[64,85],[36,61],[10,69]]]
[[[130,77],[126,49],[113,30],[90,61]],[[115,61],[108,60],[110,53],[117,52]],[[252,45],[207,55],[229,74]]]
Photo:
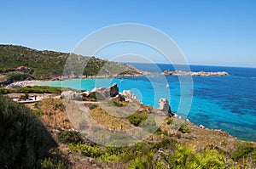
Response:
[[[173,70],[172,65],[131,64],[140,70]],[[144,104],[158,107],[158,100],[170,100],[172,111],[195,125],[222,129],[230,135],[256,141],[256,68],[190,65],[192,71],[227,71],[230,76],[193,76],[193,90],[181,93],[178,76],[142,76],[113,79],[75,79],[40,82],[38,85],[64,86],[91,90],[118,83],[119,92],[131,90]],[[170,85],[166,87],[166,83]],[[188,113],[183,113],[181,98],[191,98]],[[189,103],[189,102],[188,102]]]

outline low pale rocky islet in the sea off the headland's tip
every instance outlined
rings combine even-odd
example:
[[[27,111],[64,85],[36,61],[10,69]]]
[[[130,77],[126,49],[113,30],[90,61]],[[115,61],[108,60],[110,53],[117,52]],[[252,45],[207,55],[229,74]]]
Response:
[[[216,71],[216,72],[207,72],[207,71],[182,71],[182,70],[165,70],[163,75],[173,75],[173,76],[228,76],[229,73],[226,71]]]

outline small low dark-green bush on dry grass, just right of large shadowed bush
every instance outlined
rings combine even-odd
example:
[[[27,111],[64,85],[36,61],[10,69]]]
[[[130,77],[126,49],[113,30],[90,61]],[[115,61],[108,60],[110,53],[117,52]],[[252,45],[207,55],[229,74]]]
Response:
[[[61,131],[57,133],[58,140],[63,144],[79,144],[84,143],[84,139],[79,132]]]

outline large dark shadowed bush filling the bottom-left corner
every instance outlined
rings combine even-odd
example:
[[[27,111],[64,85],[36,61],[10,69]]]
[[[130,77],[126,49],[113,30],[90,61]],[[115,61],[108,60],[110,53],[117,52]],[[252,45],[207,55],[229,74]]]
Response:
[[[55,141],[23,104],[0,95],[0,166],[38,168]]]

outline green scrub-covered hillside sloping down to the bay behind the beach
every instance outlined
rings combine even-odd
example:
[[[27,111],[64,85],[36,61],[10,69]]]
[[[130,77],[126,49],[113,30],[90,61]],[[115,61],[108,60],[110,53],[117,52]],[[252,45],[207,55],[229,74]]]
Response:
[[[68,58],[69,56],[71,56]],[[0,45],[0,73],[1,80],[16,76],[15,81],[24,79],[49,80],[63,75],[63,70],[68,60],[68,71],[72,73],[69,77],[78,76],[134,76],[142,75],[143,71],[137,70],[131,65],[120,64],[106,59],[95,57],[85,57],[76,54],[67,54],[53,51],[38,51],[15,45]],[[83,65],[84,63],[85,65]],[[81,73],[71,72],[78,67],[82,67]],[[17,71],[18,66],[27,66],[30,70]],[[67,69],[66,69],[67,70]],[[1,75],[0,74],[0,75]],[[15,75],[14,75],[15,74]],[[20,74],[22,77],[19,79]],[[3,76],[9,75],[9,76]]]

